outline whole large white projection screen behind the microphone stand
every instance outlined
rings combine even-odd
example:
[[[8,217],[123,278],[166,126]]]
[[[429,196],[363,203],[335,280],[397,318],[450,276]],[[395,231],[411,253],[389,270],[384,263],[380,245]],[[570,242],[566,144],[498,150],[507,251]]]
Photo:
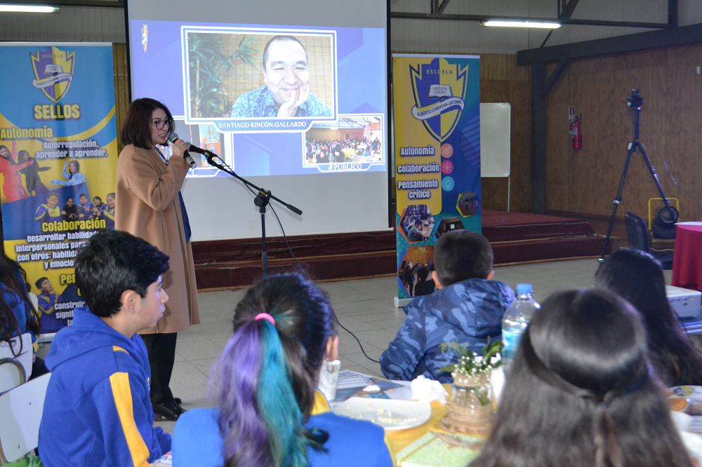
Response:
[[[132,99],[166,104],[185,141],[303,210],[286,234],[388,229],[385,0],[131,0]],[[166,149],[168,151],[168,149]],[[260,236],[244,184],[192,154],[193,240]],[[267,234],[279,227],[267,211]]]

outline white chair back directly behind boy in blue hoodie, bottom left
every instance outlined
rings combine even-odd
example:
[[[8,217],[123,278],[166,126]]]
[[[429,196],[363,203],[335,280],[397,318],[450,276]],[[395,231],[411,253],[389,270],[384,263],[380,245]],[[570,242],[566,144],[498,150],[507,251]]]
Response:
[[[51,373],[0,395],[0,463],[22,459],[39,445],[39,424]]]

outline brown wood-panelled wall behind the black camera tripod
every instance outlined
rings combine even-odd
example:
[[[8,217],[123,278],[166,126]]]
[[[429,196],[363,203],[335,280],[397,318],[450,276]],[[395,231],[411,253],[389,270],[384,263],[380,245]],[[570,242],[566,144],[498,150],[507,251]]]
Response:
[[[547,100],[546,208],[591,217],[611,216],[632,140],[633,112],[626,97],[644,97],[640,141],[658,172],[666,196],[680,198],[682,220],[702,217],[702,207],[675,187],[658,156],[680,185],[701,198],[702,44],[658,48],[572,62]],[[555,64],[550,64],[550,69]],[[547,67],[547,76],[550,73]],[[583,114],[583,149],[572,149],[567,107]],[[657,149],[657,150],[656,150]],[[633,211],[646,218],[658,192],[642,156],[634,154],[618,217]]]

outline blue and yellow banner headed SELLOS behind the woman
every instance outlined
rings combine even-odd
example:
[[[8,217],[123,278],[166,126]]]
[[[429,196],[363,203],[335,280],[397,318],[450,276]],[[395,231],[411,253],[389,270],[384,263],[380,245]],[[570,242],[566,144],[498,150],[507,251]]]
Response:
[[[43,333],[84,306],[77,250],[114,229],[117,123],[110,43],[0,43],[5,252],[27,272]]]

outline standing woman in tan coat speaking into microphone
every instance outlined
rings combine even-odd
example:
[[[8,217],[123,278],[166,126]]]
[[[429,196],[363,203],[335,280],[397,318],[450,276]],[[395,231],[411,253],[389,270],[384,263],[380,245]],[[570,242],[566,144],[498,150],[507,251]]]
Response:
[[[167,144],[173,117],[164,104],[137,99],[127,111],[117,159],[117,219],[115,229],[144,238],[171,257],[171,269],[163,276],[168,294],[166,311],[155,327],[142,338],[151,365],[151,402],[157,419],[176,420],[184,411],[173,398],[171,381],[176,357],[177,332],[200,322],[195,269],[190,247],[190,226],[180,187],[189,168],[183,158],[183,140],[173,144],[166,160],[157,144]],[[185,222],[183,219],[185,218]],[[187,235],[186,235],[187,234]]]

